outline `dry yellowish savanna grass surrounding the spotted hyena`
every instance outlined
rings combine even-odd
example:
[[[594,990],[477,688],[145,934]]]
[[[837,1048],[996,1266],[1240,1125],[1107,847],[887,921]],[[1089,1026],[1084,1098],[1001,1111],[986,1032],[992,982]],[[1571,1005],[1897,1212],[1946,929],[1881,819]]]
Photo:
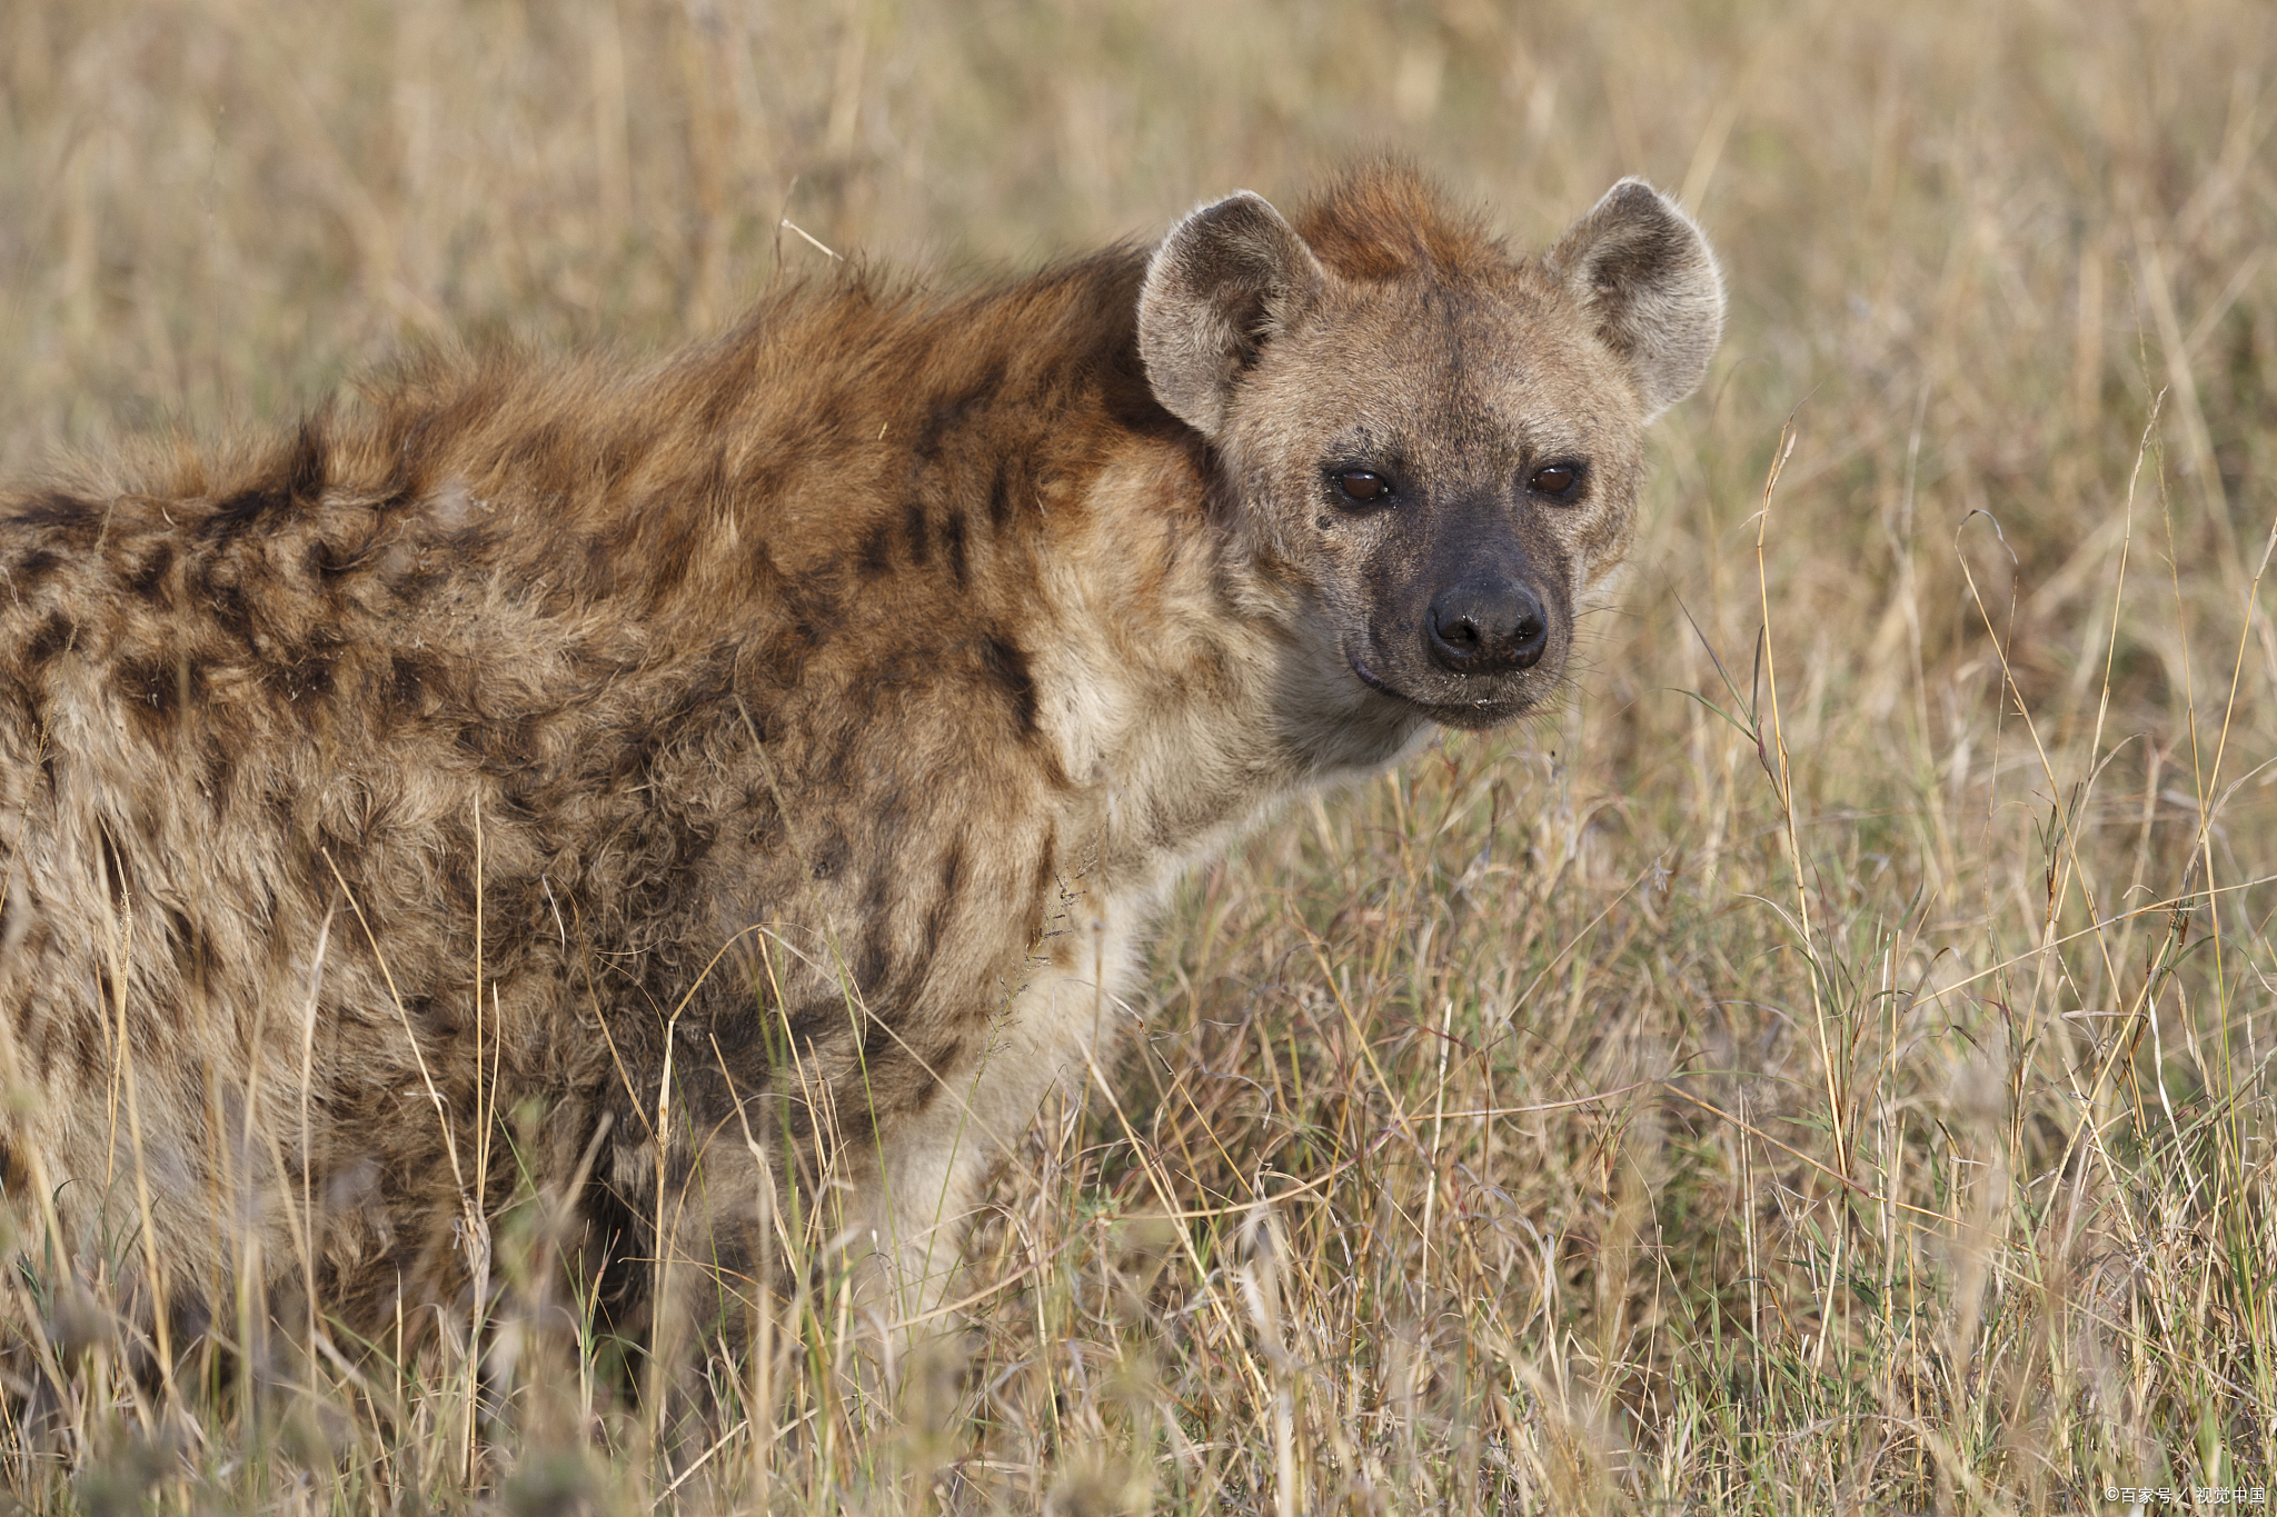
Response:
[[[608,1344],[528,1324],[478,1415],[465,1356],[153,1401],[50,1312],[61,1433],[0,1426],[5,1499],[2120,1512],[2272,1483],[2257,0],[9,0],[0,89],[11,475],[280,423],[405,341],[653,350],[817,243],[1029,266],[1387,146],[1530,243],[1644,173],[1733,298],[1567,705],[1191,880],[1136,1055],[995,1187],[972,1360],[911,1378],[913,1421],[833,1369],[829,1280],[706,1446],[651,1437]],[[16,1312],[41,1269],[9,1237]]]

